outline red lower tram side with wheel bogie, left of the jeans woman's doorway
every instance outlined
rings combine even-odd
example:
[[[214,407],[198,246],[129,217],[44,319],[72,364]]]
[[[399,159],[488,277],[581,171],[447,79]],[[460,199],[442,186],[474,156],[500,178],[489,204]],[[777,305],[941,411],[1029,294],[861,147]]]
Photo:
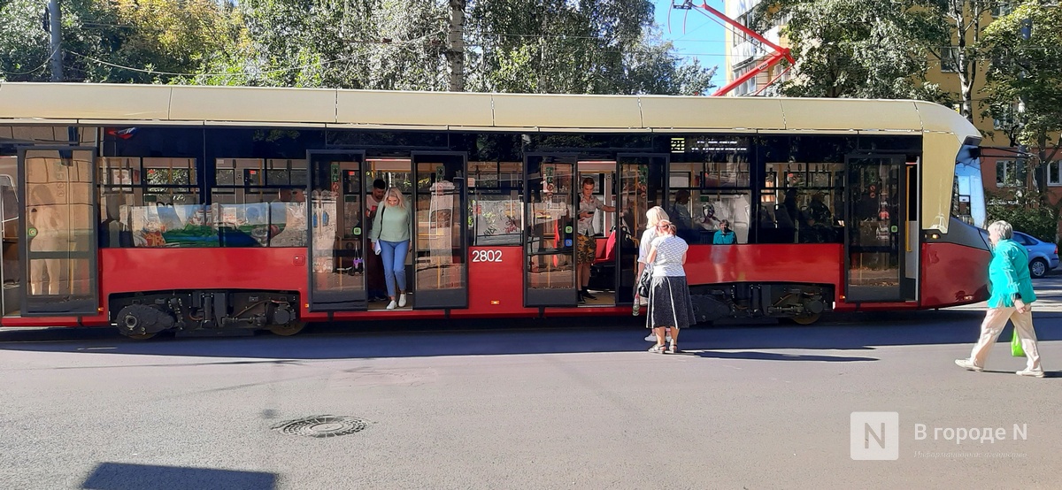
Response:
[[[112,320],[140,316],[131,321],[148,330],[262,328],[318,316],[301,300],[305,248],[105,248],[100,293]]]

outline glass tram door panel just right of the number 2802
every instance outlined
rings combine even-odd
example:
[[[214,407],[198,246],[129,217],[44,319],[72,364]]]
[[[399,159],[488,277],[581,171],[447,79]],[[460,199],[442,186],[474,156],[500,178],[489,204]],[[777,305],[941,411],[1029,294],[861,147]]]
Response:
[[[528,155],[524,169],[524,303],[575,307],[576,158]]]

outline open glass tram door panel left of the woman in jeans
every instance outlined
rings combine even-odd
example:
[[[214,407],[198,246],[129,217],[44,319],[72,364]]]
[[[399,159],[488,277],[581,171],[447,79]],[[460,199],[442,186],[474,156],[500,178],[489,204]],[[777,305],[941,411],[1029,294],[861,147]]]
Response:
[[[310,311],[365,310],[364,154],[309,152],[307,161]]]

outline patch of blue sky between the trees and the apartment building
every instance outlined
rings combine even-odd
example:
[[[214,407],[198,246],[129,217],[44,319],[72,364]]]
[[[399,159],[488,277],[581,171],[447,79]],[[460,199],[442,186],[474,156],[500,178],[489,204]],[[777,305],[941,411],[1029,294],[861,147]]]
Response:
[[[700,5],[704,0],[693,0]],[[674,43],[679,56],[698,58],[704,67],[719,66],[712,82],[716,87],[726,84],[722,20],[699,8],[679,10],[671,4],[681,0],[653,0],[656,4],[656,23],[664,33],[664,39]],[[723,0],[707,0],[708,6],[724,12]],[[670,28],[668,24],[670,20]]]

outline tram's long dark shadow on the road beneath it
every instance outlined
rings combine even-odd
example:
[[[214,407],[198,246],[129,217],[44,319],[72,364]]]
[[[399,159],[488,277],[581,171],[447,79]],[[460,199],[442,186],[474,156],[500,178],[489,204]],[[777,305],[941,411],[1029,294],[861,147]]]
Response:
[[[936,311],[836,315],[815,326],[717,325],[682,332],[681,346],[705,357],[854,362],[871,357],[750,352],[772,349],[873,350],[880,346],[973,345],[982,312]],[[1057,320],[1038,318],[1041,340],[1062,339]],[[0,351],[225,357],[226,363],[301,360],[638,352],[648,348],[644,318],[374,321],[314,326],[293,337],[131,340],[112,329],[0,331]],[[1003,339],[1010,338],[1010,329]],[[737,352],[725,352],[737,351]]]

